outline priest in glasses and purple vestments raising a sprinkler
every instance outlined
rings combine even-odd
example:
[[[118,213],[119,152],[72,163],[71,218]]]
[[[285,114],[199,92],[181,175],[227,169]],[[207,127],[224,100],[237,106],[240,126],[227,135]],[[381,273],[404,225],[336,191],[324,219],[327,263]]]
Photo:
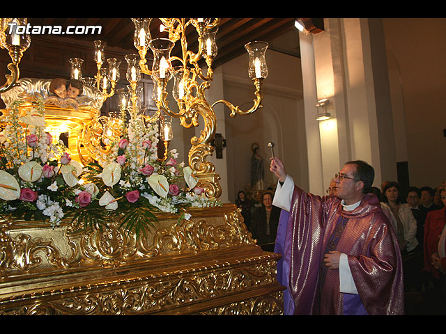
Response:
[[[284,285],[293,314],[402,315],[401,254],[378,199],[369,194],[374,168],[347,162],[335,177],[335,196],[322,198],[295,186],[277,157],[270,170],[279,179],[273,205],[289,212],[281,248],[290,266],[283,272],[289,272]]]

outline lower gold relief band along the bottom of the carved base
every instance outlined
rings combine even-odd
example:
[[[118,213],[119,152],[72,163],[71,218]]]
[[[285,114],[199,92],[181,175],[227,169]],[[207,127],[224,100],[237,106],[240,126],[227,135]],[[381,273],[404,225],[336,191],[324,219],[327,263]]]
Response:
[[[182,306],[198,305],[228,294],[246,293],[258,287],[272,287],[275,283],[277,257],[263,255],[243,264],[226,262],[210,267],[194,267],[159,273],[157,276],[133,280],[105,282],[102,286],[79,287],[73,296],[70,291],[59,292],[48,298],[29,299],[31,305],[0,310],[3,315],[137,315],[156,312],[178,312]],[[277,290],[277,287],[274,288]],[[66,296],[65,296],[66,295]],[[266,298],[266,301],[263,299]],[[21,300],[24,300],[23,298]],[[279,297],[257,297],[248,301],[250,312],[264,309],[279,312]],[[10,301],[13,303],[13,300]],[[12,304],[14,305],[14,304]],[[225,306],[226,310],[232,310]],[[210,311],[212,314],[215,311]],[[173,313],[174,314],[174,313]],[[240,314],[244,314],[243,312]]]

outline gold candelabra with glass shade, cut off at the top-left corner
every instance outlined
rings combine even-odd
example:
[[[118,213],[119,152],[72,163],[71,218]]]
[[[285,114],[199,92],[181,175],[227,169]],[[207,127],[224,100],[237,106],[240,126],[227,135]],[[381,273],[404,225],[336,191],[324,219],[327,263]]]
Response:
[[[0,87],[0,93],[5,93],[17,86],[17,80],[20,78],[19,63],[24,51],[28,49],[31,38],[29,35],[20,33],[17,28],[26,26],[28,19],[2,18],[0,19],[0,47],[8,49],[12,63],[8,64],[8,70],[11,74],[6,74],[6,84]]]

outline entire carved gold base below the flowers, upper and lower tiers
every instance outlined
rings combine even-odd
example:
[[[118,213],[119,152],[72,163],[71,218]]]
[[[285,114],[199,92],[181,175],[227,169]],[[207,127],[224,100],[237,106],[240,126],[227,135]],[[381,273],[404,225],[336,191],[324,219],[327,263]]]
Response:
[[[282,314],[280,255],[256,246],[234,205],[161,214],[147,237],[113,222],[0,225],[0,314]]]

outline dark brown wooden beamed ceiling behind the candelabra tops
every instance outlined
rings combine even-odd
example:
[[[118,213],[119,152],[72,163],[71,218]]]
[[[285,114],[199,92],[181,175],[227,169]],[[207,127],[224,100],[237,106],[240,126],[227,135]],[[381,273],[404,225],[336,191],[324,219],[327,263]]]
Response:
[[[213,67],[222,65],[240,54],[244,54],[244,45],[252,40],[264,40],[269,42],[290,31],[294,27],[293,18],[222,18],[217,33],[218,54],[213,63]],[[133,45],[134,24],[130,18],[29,18],[31,26],[102,26],[100,35],[71,35],[70,39],[92,42],[93,40],[104,40],[107,46],[129,50],[129,53],[137,53]],[[166,33],[159,32],[160,21],[155,20],[151,24],[151,34],[153,38],[167,37]],[[190,34],[196,34],[191,29]],[[67,38],[66,36],[63,38]],[[190,49],[194,51],[194,45],[188,38]],[[195,50],[196,51],[196,50]],[[174,51],[175,54],[175,51]]]

